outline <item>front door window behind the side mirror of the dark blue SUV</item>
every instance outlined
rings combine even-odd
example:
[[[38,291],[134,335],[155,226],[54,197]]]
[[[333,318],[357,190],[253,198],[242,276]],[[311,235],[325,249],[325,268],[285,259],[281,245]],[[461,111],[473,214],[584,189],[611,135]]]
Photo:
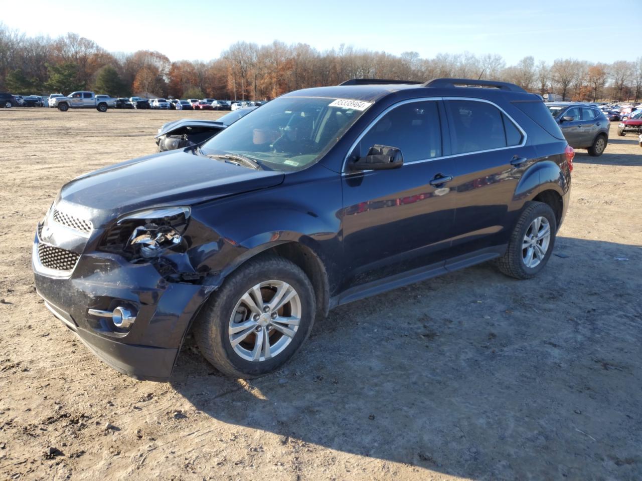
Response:
[[[352,156],[366,156],[374,145],[400,149],[404,163],[440,157],[442,138],[437,102],[411,102],[393,108],[363,136]]]

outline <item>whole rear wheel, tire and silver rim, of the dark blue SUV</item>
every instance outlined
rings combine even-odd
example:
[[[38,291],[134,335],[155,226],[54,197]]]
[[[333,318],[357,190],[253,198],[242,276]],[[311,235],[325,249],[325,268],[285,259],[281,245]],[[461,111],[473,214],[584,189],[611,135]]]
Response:
[[[497,260],[499,270],[516,279],[534,277],[551,257],[556,232],[553,209],[543,202],[529,202],[510,235],[506,252]]]

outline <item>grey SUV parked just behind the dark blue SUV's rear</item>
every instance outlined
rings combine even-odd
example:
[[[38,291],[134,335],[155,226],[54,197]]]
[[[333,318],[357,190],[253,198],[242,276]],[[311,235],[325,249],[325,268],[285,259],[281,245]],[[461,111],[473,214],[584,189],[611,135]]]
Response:
[[[594,105],[577,102],[547,102],[549,112],[559,124],[569,146],[587,149],[589,155],[602,155],[609,143],[610,121]]]

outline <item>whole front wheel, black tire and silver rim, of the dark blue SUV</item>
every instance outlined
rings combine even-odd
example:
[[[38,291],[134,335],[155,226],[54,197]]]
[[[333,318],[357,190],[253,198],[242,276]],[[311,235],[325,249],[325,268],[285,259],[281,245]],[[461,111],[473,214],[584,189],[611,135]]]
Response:
[[[277,287],[279,282],[281,287]],[[270,312],[265,312],[259,317],[258,314],[252,314],[248,304],[243,301],[247,297],[250,301],[256,299],[256,295],[250,294],[250,291],[257,292],[252,289],[259,283],[268,284],[258,290],[263,298],[262,303],[269,303],[275,295],[273,292],[280,292],[280,289],[285,289],[283,295],[288,296],[288,293],[291,293],[288,287],[285,287],[288,285],[295,291],[295,295],[277,314],[270,315]],[[256,306],[256,302],[254,305]],[[261,312],[260,306],[255,309],[256,312]],[[276,319],[284,320],[299,317],[299,324],[296,326],[293,324],[294,321],[292,324],[281,324],[273,320],[275,315]],[[216,369],[233,378],[249,379],[271,373],[288,361],[308,338],[315,315],[314,290],[308,276],[300,267],[281,257],[261,257],[249,260],[230,274],[198,315],[194,332],[200,351]],[[240,323],[244,323],[247,328],[244,329]],[[230,336],[235,335],[230,333],[233,325],[236,325],[238,338],[243,339],[236,347],[232,346],[230,339]],[[293,335],[282,333],[284,326],[287,326],[286,331],[290,333],[294,330]],[[257,329],[260,330],[260,334],[256,333]],[[272,350],[270,356],[265,355],[265,349],[257,349],[257,346],[261,345],[259,335],[262,336],[265,346],[264,334],[269,336],[267,340]],[[276,354],[272,355],[273,352]],[[258,353],[259,360],[252,360],[253,356],[256,358],[255,353]]]

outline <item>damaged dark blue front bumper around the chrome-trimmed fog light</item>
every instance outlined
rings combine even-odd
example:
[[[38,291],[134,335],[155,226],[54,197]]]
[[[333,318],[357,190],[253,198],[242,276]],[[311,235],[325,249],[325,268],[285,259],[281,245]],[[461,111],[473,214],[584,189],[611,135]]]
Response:
[[[152,264],[91,250],[80,255],[72,271],[56,273],[40,263],[40,242],[37,232],[31,257],[35,285],[54,316],[117,371],[140,380],[167,380],[187,328],[212,288],[168,282]],[[118,305],[137,313],[129,329],[89,313]]]

